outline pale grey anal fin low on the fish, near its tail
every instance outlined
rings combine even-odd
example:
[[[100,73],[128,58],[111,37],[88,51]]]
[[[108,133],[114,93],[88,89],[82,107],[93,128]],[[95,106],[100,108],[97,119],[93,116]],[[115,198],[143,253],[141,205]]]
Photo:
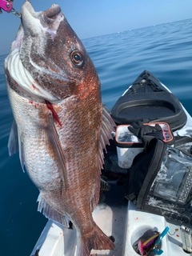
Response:
[[[38,211],[46,216],[46,218],[52,219],[55,222],[61,223],[63,226],[70,227],[70,219],[66,215],[59,214],[56,210],[54,210],[42,195],[38,195]]]

